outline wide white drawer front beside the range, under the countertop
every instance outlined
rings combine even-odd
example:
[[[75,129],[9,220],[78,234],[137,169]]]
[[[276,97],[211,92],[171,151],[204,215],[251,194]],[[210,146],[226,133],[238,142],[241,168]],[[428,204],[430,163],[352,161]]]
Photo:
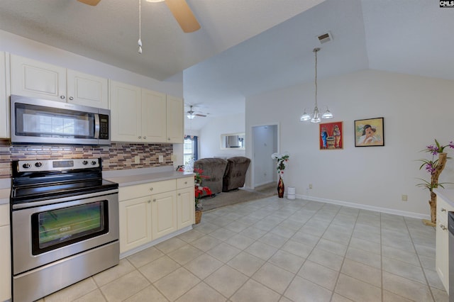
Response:
[[[147,184],[136,184],[135,186],[124,186],[118,190],[118,199],[119,201],[125,201],[131,198],[175,191],[176,189],[177,184],[175,179],[148,182]]]

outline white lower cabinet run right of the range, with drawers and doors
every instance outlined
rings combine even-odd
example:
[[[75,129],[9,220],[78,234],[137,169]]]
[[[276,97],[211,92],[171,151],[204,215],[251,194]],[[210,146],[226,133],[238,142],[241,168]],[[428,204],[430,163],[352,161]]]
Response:
[[[194,177],[120,187],[120,252],[194,223]]]

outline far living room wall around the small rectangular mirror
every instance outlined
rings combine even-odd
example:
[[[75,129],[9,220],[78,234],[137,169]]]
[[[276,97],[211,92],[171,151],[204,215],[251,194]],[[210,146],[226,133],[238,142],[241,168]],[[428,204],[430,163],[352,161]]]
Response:
[[[244,113],[211,118],[211,121],[200,130],[200,158],[245,156],[245,150],[221,149],[221,134],[244,132]],[[248,145],[247,139],[245,145]]]

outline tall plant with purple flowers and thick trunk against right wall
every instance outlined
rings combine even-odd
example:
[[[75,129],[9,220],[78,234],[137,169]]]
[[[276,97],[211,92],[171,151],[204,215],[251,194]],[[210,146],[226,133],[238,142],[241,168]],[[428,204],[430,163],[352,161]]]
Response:
[[[423,162],[419,169],[426,169],[426,172],[431,174],[431,181],[426,181],[425,179],[421,179],[423,183],[421,184],[416,184],[416,186],[422,186],[423,188],[428,189],[428,191],[431,192],[431,199],[428,201],[428,204],[431,206],[431,220],[423,220],[423,223],[426,225],[431,225],[435,226],[436,225],[436,206],[437,206],[437,195],[435,192],[433,192],[433,189],[438,188],[440,186],[441,188],[444,189],[443,184],[447,183],[439,183],[438,182],[438,177],[440,176],[441,172],[445,168],[446,160],[450,157],[447,157],[447,154],[443,152],[445,147],[450,147],[451,149],[454,148],[454,143],[449,142],[449,145],[440,145],[440,143],[435,140],[435,145],[428,145],[424,152],[429,152],[432,155],[431,160],[419,160],[420,162]],[[435,159],[435,157],[438,155],[438,159]]]

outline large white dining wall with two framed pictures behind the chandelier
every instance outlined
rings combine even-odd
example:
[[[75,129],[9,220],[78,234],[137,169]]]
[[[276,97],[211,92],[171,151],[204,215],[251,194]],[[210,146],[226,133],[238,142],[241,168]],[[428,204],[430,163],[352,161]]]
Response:
[[[319,81],[318,96],[334,115],[328,122],[343,121],[343,150],[319,150],[319,125],[299,121],[314,106],[310,83],[246,99],[246,140],[252,125],[279,121],[279,150],[290,152],[284,183],[297,196],[427,218],[429,193],[415,185],[429,175],[417,160],[435,138],[454,138],[454,81],[365,70]],[[384,147],[355,147],[354,121],[376,117],[384,117]],[[439,181],[454,182],[452,160]]]

